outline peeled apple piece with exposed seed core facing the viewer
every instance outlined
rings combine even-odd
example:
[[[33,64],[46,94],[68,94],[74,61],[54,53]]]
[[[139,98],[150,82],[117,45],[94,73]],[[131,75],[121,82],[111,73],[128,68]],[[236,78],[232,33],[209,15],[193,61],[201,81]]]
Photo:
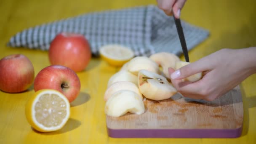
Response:
[[[139,71],[139,90],[148,99],[155,101],[169,99],[176,89],[162,75],[148,70]]]

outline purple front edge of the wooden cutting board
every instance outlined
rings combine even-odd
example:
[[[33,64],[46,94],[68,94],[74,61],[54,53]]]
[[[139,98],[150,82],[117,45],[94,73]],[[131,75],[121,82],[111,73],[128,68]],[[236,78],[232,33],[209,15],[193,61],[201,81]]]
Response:
[[[111,129],[107,133],[113,138],[237,138],[242,127],[236,129]]]

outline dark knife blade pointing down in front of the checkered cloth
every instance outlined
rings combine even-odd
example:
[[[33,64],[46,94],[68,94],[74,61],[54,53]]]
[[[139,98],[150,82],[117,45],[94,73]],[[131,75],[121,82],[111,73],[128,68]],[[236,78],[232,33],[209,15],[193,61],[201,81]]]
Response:
[[[179,41],[181,43],[181,48],[182,48],[183,54],[185,56],[186,61],[189,62],[189,54],[188,54],[188,51],[187,51],[187,44],[186,44],[186,40],[185,40],[185,37],[184,37],[183,29],[182,29],[182,26],[181,26],[181,20],[176,19],[174,15],[173,15],[173,18],[174,18],[174,21],[175,21],[175,25],[176,25],[176,28],[177,28],[178,35],[179,35]]]

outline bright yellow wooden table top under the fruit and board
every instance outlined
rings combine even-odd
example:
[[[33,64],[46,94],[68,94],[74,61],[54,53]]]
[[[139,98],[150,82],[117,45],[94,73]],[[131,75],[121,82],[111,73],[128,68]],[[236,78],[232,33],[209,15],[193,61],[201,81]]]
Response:
[[[9,38],[22,29],[45,22],[92,11],[156,4],[155,0],[1,0],[0,58],[22,53],[35,67],[35,75],[50,63],[46,51],[8,48]],[[188,0],[181,19],[208,29],[210,37],[189,51],[191,61],[221,48],[256,46],[255,0]],[[184,60],[184,57],[181,56]],[[169,144],[256,144],[256,75],[241,83],[244,104],[243,133],[236,139],[114,139],[107,135],[104,114],[104,91],[107,81],[118,69],[93,58],[84,72],[77,73],[81,93],[71,104],[71,118],[60,131],[36,133],[24,115],[24,105],[34,93],[0,91],[0,144],[106,144],[106,143],[169,143]]]

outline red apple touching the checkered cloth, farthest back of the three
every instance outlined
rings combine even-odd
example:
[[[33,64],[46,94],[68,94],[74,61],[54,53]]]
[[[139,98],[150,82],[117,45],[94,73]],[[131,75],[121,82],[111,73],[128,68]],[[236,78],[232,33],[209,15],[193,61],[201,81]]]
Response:
[[[91,48],[83,35],[60,33],[51,42],[48,56],[52,65],[66,66],[80,72],[91,60]]]

